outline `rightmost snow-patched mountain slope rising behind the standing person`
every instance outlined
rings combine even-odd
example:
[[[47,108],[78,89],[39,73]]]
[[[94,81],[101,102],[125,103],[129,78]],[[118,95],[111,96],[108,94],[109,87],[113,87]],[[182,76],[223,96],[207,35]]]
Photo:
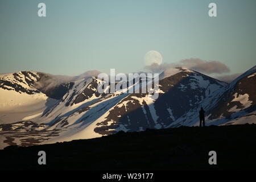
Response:
[[[212,99],[207,98],[201,105],[207,111],[205,113],[207,125],[236,125],[256,122],[256,91],[253,87],[256,82],[256,67],[249,69],[224,88],[218,90],[218,94]],[[186,126],[198,126],[199,107],[185,113],[174,124]]]

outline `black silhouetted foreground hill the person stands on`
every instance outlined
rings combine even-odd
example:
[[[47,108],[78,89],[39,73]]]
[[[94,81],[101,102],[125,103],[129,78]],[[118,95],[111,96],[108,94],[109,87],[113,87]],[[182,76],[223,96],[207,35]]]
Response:
[[[0,150],[2,170],[256,169],[256,125],[179,127]],[[38,164],[38,152],[47,164]],[[217,165],[209,165],[209,151]]]

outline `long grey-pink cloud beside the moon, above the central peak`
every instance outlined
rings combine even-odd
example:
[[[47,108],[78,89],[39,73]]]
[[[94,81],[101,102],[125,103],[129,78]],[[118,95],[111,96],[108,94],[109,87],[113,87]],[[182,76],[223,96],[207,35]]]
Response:
[[[185,67],[206,74],[229,73],[230,69],[220,61],[205,61],[198,58],[184,59],[177,63],[153,63],[146,67],[152,72],[162,72],[169,68]]]

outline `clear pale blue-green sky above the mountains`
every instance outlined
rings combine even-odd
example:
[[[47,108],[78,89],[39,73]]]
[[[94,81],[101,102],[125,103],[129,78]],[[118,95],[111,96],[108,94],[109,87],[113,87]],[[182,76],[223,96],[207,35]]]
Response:
[[[46,17],[38,16],[40,2]],[[208,16],[211,2],[217,17]],[[0,73],[138,72],[150,50],[163,65],[199,59],[229,68],[216,74],[242,73],[256,63],[255,7],[255,0],[0,0]]]

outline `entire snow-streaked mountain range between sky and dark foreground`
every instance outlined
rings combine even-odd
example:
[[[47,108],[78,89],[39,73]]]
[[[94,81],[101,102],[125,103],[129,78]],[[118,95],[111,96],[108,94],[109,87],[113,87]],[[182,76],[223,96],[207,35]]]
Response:
[[[2,74],[0,147],[196,126],[201,106],[207,111],[207,125],[255,122],[255,68],[230,84],[173,68],[160,75],[156,100],[150,93],[126,93],[130,88],[100,94],[102,81],[97,77],[68,79],[48,88],[52,77],[45,73]]]

